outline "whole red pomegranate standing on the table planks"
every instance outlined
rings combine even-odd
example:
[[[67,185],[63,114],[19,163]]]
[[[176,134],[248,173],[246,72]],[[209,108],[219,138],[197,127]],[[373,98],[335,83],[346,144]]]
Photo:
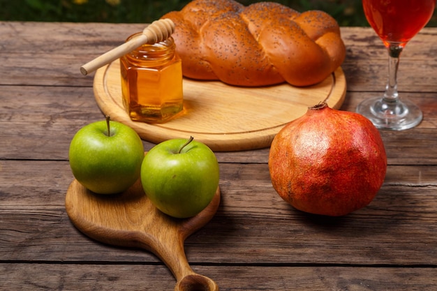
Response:
[[[327,103],[284,126],[269,152],[276,192],[311,214],[343,216],[369,204],[385,179],[378,129],[360,114]]]

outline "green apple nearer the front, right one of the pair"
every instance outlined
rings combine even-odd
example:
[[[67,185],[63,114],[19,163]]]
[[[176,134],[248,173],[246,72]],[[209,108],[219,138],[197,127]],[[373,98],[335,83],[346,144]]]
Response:
[[[142,187],[163,213],[176,218],[195,216],[216,193],[217,158],[202,142],[173,139],[156,144],[141,165]]]

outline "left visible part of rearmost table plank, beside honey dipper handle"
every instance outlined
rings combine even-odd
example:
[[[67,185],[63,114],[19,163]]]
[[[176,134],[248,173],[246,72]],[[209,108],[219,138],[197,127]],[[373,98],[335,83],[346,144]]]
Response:
[[[120,45],[132,31],[142,30],[140,27],[145,26],[0,22],[0,82],[92,87],[93,75],[84,77],[80,66]]]

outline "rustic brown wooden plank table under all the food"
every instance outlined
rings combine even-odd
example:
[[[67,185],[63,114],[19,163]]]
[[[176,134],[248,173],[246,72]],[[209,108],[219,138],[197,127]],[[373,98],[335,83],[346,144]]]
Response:
[[[142,24],[0,22],[0,289],[173,290],[147,251],[79,232],[65,209],[68,146],[102,119],[79,68]],[[383,91],[387,54],[369,28],[342,28],[342,110]],[[185,244],[191,267],[221,290],[437,290],[437,29],[423,29],[399,68],[417,128],[381,131],[387,177],[368,207],[304,214],[272,188],[269,149],[216,153],[221,205]],[[144,142],[145,149],[154,144]]]

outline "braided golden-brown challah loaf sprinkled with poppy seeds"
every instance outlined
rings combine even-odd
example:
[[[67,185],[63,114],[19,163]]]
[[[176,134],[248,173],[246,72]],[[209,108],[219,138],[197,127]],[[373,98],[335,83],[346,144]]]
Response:
[[[194,0],[162,18],[185,77],[243,87],[325,80],[346,54],[336,21],[327,13],[298,13],[274,2],[243,6],[233,0]]]

